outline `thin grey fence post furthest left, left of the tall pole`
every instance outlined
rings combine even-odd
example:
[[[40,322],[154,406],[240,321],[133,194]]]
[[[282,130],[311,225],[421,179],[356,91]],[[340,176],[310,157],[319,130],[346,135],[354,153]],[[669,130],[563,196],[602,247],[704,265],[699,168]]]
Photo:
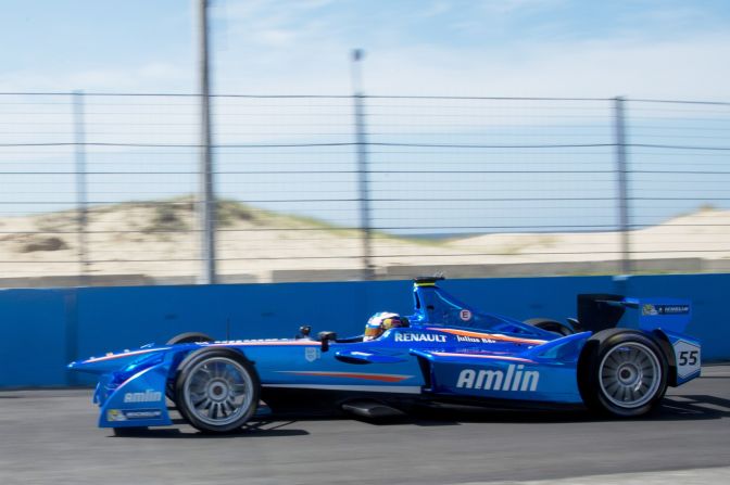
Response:
[[[74,132],[76,153],[76,210],[78,224],[78,273],[80,285],[87,283],[89,258],[87,250],[88,200],[86,190],[86,130],[84,125],[84,92],[74,91]]]

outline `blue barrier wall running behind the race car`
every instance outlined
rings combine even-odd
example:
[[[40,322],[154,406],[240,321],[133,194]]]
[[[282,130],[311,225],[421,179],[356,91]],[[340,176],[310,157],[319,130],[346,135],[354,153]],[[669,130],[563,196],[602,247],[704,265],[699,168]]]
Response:
[[[577,293],[674,296],[693,301],[688,333],[705,360],[730,359],[726,294],[730,275],[446,280],[460,299],[518,319],[575,316]],[[65,363],[108,350],[164,343],[186,331],[215,339],[362,333],[375,311],[412,312],[410,281],[127,286],[0,291],[0,386],[86,384]]]

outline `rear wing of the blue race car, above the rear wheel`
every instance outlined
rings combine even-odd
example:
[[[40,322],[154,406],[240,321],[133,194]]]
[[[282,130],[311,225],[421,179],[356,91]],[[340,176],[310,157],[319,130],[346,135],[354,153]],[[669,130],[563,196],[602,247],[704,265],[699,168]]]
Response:
[[[578,295],[579,326],[593,332],[621,327],[683,333],[691,320],[692,304],[689,299],[633,298],[613,294]]]

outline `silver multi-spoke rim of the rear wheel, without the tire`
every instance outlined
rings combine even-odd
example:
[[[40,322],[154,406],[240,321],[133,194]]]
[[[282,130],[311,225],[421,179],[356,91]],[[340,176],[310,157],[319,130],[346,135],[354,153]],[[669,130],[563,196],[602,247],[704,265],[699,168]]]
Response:
[[[662,368],[656,354],[643,344],[617,345],[603,357],[599,368],[603,395],[620,408],[644,406],[656,395]]]

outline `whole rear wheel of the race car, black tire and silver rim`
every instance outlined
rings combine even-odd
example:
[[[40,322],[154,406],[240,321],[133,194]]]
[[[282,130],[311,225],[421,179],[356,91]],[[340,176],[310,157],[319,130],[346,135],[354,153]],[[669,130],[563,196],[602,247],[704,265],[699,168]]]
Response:
[[[634,418],[655,409],[667,391],[668,365],[659,344],[635,330],[608,329],[586,342],[578,388],[594,412]]]

